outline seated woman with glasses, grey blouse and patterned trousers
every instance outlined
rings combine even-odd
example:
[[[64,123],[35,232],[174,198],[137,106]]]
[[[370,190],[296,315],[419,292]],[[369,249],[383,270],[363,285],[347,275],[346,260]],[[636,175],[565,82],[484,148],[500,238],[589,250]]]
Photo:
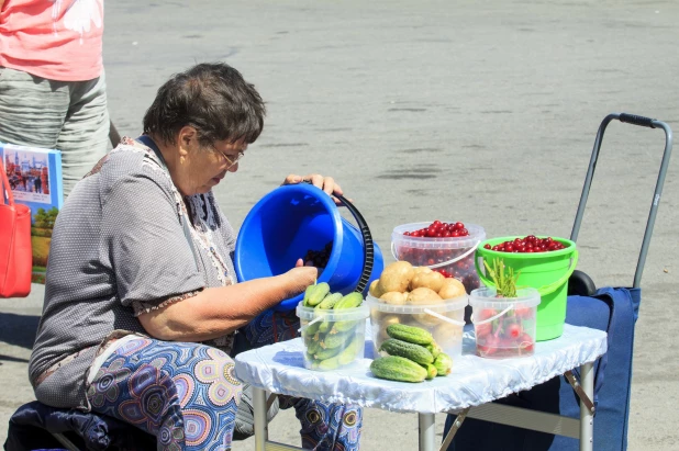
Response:
[[[212,188],[263,128],[264,102],[225,64],[174,76],[122,143],[75,187],[56,221],[30,377],[54,407],[93,410],[157,438],[158,450],[231,448],[246,347],[290,338],[294,316],[268,311],[318,275],[236,283],[235,234]],[[283,183],[297,183],[288,176]],[[331,178],[309,176],[329,194]],[[358,448],[360,409],[285,398],[302,446]]]

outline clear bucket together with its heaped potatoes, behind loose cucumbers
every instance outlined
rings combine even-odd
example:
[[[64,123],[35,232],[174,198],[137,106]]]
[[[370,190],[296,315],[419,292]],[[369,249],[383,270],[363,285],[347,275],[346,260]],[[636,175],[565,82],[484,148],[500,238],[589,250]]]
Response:
[[[461,354],[467,304],[465,286],[456,279],[407,261],[387,266],[364,302],[370,308],[375,356],[389,338],[387,327],[397,323],[430,331],[448,356]]]

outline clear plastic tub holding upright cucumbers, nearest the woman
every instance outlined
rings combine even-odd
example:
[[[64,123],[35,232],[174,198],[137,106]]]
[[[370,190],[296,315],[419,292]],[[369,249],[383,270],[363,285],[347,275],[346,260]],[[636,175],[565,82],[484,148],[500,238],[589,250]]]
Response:
[[[366,319],[370,309],[365,305],[340,311],[297,306],[304,342],[304,368],[332,371],[364,358]]]

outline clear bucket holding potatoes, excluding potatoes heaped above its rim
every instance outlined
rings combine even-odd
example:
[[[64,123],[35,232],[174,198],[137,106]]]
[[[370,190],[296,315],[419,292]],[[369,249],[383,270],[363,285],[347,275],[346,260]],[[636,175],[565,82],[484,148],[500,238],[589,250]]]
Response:
[[[463,353],[463,327],[467,295],[444,300],[436,304],[393,305],[368,295],[364,305],[370,308],[374,356],[379,356],[379,347],[389,338],[387,327],[391,324],[405,324],[427,330],[448,356]]]

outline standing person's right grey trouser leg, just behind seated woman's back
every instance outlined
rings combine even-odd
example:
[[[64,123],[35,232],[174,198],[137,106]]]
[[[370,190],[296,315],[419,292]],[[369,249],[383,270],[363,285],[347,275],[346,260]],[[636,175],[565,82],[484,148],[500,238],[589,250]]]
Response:
[[[101,77],[75,83],[57,148],[62,150],[64,196],[107,154],[109,110],[107,82]]]

